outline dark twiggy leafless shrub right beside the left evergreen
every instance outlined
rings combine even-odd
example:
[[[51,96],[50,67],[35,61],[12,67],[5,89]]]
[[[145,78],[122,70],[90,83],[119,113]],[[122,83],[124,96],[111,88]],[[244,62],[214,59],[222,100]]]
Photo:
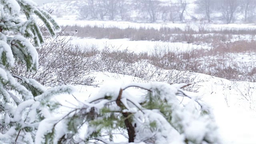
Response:
[[[97,86],[94,76],[84,59],[84,52],[68,44],[68,37],[60,32],[52,40],[41,26],[46,44],[37,49],[39,55],[38,71],[27,73],[24,65],[15,63],[12,74],[27,78],[34,78],[44,86],[57,86],[62,84]]]

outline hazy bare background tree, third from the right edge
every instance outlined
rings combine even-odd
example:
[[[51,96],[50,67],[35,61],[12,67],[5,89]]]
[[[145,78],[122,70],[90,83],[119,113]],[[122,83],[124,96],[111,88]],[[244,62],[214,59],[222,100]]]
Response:
[[[197,0],[197,12],[204,14],[208,22],[211,22],[211,13],[213,10],[215,0]],[[218,1],[217,1],[218,2]]]

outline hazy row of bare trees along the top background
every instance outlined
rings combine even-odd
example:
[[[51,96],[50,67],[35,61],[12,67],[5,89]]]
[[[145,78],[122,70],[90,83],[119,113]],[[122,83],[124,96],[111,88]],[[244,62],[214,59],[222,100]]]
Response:
[[[80,18],[84,20],[205,20],[228,24],[255,22],[255,17],[255,0],[86,0],[80,7]]]

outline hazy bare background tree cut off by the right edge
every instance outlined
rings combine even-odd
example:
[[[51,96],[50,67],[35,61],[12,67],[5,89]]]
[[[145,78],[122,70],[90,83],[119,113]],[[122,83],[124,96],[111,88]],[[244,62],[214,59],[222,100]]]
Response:
[[[248,18],[254,15],[254,12],[256,10],[256,1],[240,0],[239,2],[240,2],[242,14],[244,15],[244,22],[247,22]]]

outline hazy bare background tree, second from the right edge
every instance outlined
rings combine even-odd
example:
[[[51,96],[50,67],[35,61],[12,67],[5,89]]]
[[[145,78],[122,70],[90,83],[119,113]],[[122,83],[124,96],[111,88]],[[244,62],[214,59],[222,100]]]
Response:
[[[235,14],[238,8],[238,0],[222,0],[221,12],[223,19],[229,24],[235,21]]]

